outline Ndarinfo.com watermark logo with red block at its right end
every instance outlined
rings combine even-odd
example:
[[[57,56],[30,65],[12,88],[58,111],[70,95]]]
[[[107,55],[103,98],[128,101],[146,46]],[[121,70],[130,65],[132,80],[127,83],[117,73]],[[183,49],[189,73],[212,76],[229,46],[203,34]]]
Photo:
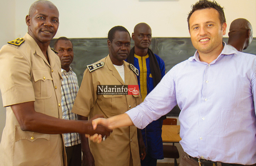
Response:
[[[97,85],[97,95],[139,95],[139,86]]]

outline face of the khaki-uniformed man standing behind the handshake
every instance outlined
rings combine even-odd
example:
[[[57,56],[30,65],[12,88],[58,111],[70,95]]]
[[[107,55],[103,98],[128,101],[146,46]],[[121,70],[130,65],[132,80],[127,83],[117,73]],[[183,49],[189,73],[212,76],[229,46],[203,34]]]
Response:
[[[131,38],[128,32],[116,31],[113,41],[108,40],[109,56],[114,65],[123,65],[131,50]]]

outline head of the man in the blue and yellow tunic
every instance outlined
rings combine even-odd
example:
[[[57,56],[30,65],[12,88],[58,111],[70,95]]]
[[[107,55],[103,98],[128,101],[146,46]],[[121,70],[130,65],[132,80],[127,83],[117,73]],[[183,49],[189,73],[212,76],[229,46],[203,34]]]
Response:
[[[147,49],[151,44],[152,34],[151,28],[146,23],[141,23],[135,27],[132,33],[132,40],[134,40],[135,47],[139,49]]]

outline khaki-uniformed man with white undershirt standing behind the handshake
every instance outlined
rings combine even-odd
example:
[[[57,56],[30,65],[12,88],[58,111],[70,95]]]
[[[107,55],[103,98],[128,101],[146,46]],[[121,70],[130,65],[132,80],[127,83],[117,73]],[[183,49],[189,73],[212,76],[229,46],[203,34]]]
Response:
[[[88,65],[84,72],[72,109],[73,113],[81,115],[78,119],[96,114],[109,118],[125,113],[142,102],[139,92],[138,95],[97,95],[97,85],[138,85],[135,74],[137,69],[124,61],[130,52],[130,41],[130,34],[124,27],[117,26],[109,31],[109,55]],[[120,70],[116,69],[119,67]],[[122,69],[123,74],[120,74]],[[82,146],[87,140],[81,137]],[[101,144],[90,142],[90,150],[96,166],[140,166],[135,126],[116,128]]]

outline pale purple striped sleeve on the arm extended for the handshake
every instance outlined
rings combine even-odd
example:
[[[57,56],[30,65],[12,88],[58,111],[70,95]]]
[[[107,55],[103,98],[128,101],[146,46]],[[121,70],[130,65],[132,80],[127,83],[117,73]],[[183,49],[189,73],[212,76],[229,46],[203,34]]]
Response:
[[[166,115],[177,105],[175,91],[175,70],[172,68],[159,84],[146,96],[144,102],[129,110],[133,124],[144,128],[152,121]]]

